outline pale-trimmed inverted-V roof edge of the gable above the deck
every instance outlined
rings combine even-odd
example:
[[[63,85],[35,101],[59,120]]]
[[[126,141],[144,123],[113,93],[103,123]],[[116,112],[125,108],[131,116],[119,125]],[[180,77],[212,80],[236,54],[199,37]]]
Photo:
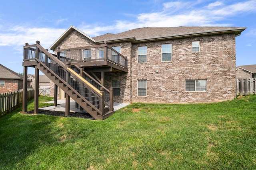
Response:
[[[79,33],[81,33],[82,35],[84,35],[85,37],[87,37],[88,39],[90,39],[91,41],[93,41],[95,43],[95,40],[90,37],[89,35],[87,35],[86,33],[84,33],[83,31],[81,31],[80,29],[77,29],[76,27],[74,27],[73,25],[71,25],[50,47],[49,49],[54,50],[70,33],[72,33],[72,31],[78,31]]]

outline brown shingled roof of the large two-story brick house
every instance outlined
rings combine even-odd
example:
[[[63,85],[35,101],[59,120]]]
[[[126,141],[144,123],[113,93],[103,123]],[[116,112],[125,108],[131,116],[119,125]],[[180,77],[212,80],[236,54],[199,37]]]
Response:
[[[80,32],[85,37],[89,38],[95,43],[116,43],[131,41],[132,43],[141,43],[146,41],[156,41],[164,39],[174,39],[181,37],[194,37],[199,35],[215,35],[222,33],[235,33],[236,36],[240,35],[246,27],[144,27],[136,28],[122,33],[112,34],[107,33],[97,37],[90,37],[81,30],[71,25],[65,33],[63,33],[51,46],[50,49],[54,50],[58,44],[66,38],[73,30]]]

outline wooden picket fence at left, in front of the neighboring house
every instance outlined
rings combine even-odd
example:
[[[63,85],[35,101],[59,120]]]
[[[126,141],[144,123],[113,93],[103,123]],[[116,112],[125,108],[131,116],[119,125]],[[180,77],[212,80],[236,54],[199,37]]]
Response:
[[[0,117],[17,109],[22,104],[23,91],[0,93]],[[28,100],[34,98],[34,89],[28,89]]]

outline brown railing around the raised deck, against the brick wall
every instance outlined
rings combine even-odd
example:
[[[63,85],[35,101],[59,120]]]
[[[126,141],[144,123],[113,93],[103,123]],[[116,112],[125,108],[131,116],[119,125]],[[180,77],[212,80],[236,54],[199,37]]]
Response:
[[[57,50],[57,57],[65,62],[89,62],[89,61],[109,61],[118,66],[127,68],[127,58],[112,49],[109,45],[93,45],[71,49]]]

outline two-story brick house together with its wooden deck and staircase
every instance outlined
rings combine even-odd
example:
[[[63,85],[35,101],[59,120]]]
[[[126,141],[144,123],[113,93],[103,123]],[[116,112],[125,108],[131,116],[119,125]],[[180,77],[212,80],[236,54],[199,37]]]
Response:
[[[96,119],[111,115],[113,102],[220,102],[236,95],[235,41],[245,29],[144,27],[90,37],[71,25],[50,46],[55,54],[25,43],[23,66]]]

